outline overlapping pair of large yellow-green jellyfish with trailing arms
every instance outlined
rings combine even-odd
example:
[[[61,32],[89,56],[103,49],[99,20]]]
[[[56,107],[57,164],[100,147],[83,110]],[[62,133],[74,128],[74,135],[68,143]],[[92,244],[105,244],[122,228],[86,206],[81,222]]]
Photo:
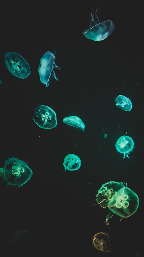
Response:
[[[109,181],[103,184],[98,190],[96,201],[101,207],[108,207],[110,210],[106,217],[106,225],[109,225],[108,220],[112,218],[114,214],[120,216],[121,221],[123,218],[128,218],[133,215],[139,207],[138,195],[124,182]]]

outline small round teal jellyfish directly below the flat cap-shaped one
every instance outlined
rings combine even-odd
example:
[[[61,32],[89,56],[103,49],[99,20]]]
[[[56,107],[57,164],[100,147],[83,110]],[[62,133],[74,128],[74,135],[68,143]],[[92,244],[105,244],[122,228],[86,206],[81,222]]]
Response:
[[[65,167],[65,171],[75,171],[80,168],[81,166],[81,160],[80,158],[75,154],[68,154],[65,156],[63,166]],[[63,172],[65,172],[63,171]]]

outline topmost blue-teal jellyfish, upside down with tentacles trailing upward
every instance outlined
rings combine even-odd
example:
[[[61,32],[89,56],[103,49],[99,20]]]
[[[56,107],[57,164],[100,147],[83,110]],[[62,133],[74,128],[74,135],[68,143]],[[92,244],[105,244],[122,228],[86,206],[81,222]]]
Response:
[[[88,39],[101,41],[107,38],[113,32],[115,25],[111,20],[103,21],[100,23],[97,16],[97,11],[98,8],[96,9],[96,12],[93,13],[92,8],[90,28],[85,29],[83,34]],[[95,21],[94,16],[96,16],[97,21]]]

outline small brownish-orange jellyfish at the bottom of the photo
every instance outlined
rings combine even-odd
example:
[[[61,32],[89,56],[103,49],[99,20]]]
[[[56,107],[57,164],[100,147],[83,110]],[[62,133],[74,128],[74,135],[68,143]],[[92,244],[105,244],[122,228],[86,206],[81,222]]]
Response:
[[[92,245],[100,252],[111,252],[111,243],[108,234],[105,232],[98,232],[92,238]]]

